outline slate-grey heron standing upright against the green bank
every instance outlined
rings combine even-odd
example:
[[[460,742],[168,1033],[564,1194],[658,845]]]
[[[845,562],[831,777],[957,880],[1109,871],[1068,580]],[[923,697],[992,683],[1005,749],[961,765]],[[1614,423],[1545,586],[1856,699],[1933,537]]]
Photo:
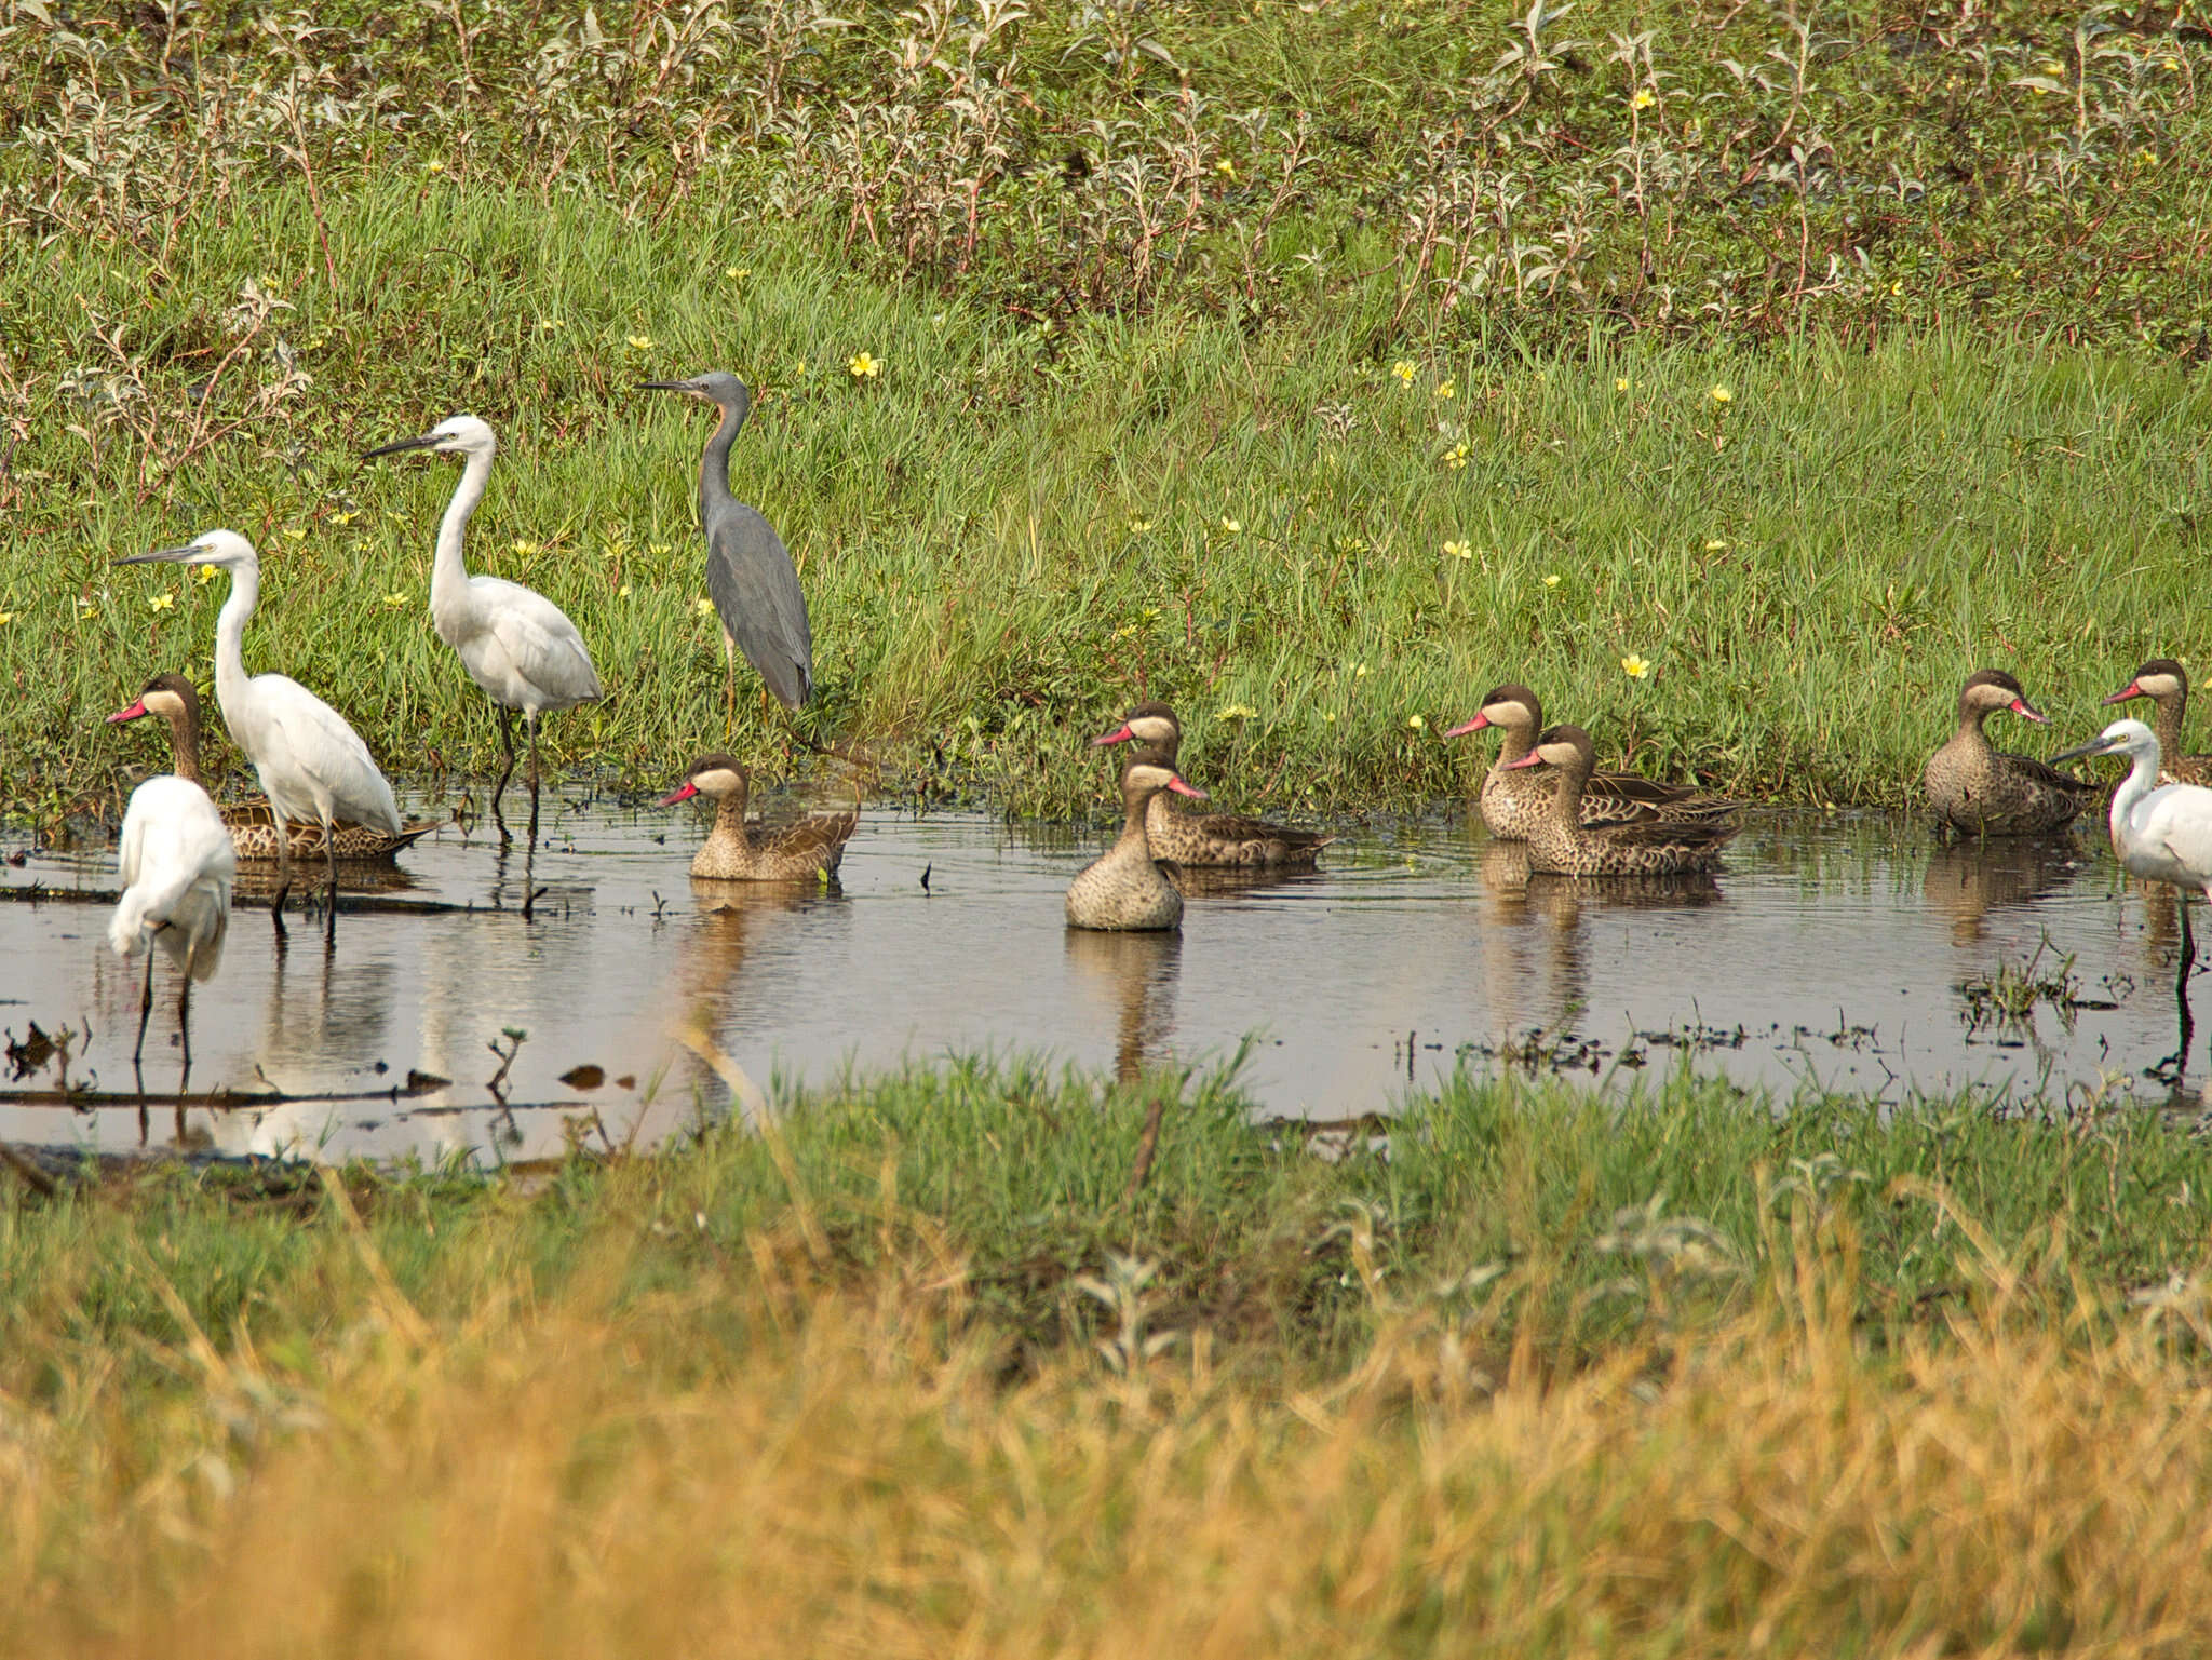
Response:
[[[699,527],[706,531],[706,591],[721,629],[745,653],[768,691],[787,708],[814,695],[814,629],[776,527],[730,494],[730,445],[752,412],[745,383],[728,372],[690,381],[648,381],[661,392],[688,392],[721,407],[721,425],[699,458]]]

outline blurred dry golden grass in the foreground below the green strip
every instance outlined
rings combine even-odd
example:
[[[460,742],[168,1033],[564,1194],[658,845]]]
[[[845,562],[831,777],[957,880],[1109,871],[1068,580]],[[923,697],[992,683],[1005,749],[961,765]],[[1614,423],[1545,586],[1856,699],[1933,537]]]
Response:
[[[942,1242],[885,1244],[830,1273],[787,1220],[681,1290],[619,1295],[611,1259],[546,1306],[518,1273],[447,1328],[363,1246],[369,1315],[305,1363],[170,1357],[199,1388],[157,1467],[62,1359],[38,1410],[0,1399],[0,1651],[2212,1645],[2199,1288],[2068,1319],[1966,1246],[1947,1324],[1874,1332],[1849,1231],[1801,1224],[1763,1290],[1571,1377],[1498,1313],[1526,1268],[1473,1313],[1391,1304],[1283,1399],[1203,1330],[1150,1341],[1128,1282],[1121,1368],[1009,1381]]]

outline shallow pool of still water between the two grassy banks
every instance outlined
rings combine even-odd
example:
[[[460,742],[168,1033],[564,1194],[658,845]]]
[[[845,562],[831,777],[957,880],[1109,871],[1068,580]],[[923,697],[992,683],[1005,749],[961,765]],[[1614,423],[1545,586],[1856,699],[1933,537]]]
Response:
[[[2088,837],[1938,848],[1893,819],[1772,815],[1717,881],[1590,883],[1528,879],[1451,808],[1347,837],[1318,874],[1201,890],[1179,936],[1106,936],[1060,916],[1104,834],[867,812],[821,892],[690,881],[701,828],[549,795],[529,885],[522,848],[440,830],[363,894],[374,910],[341,905],[334,956],[296,914],[276,952],[252,901],[195,996],[184,1107],[157,969],[144,1113],[139,972],[106,950],[108,907],[66,896],[113,890],[113,854],[33,852],[0,868],[11,899],[51,894],[0,903],[0,1025],[69,1042],[0,1069],[18,1073],[0,1140],[422,1160],[650,1144],[730,1102],[686,1025],[757,1089],[978,1051],[1206,1067],[1250,1040],[1259,1107],[1321,1120],[1460,1065],[1606,1078],[1686,1051],[1750,1085],[1887,1100],[2172,1093],[2146,1076],[2177,1040],[2172,892],[2124,883]],[[1966,983],[2068,956],[2075,1000],[2108,1007],[1975,1018]],[[507,1031],[524,1038],[493,1089]],[[97,1104],[58,1104],[62,1087]]]

